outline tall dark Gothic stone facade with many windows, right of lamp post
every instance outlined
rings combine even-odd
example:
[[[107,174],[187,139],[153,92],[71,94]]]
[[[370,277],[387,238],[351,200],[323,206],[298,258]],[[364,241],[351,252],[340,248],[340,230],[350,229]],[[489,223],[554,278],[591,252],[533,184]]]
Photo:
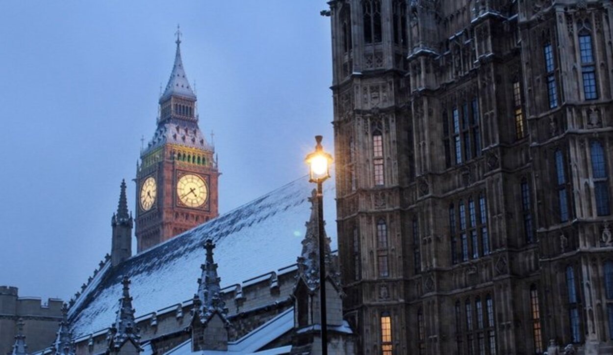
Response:
[[[613,352],[613,3],[333,0],[364,354]]]

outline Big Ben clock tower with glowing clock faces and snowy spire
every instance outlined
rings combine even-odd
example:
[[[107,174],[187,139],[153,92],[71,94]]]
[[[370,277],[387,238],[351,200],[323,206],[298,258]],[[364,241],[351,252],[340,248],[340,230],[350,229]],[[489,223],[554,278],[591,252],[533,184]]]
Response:
[[[138,252],[218,216],[219,171],[215,149],[198,127],[196,95],[181,61],[159,99],[158,128],[140,154],[136,171]]]

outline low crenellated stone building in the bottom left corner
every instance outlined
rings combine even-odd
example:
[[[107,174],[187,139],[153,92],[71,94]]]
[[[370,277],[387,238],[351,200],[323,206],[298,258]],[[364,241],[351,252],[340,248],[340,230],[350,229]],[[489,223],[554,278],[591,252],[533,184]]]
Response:
[[[0,354],[11,353],[16,335],[25,337],[28,352],[47,348],[62,319],[62,305],[55,298],[43,304],[38,297],[19,297],[17,287],[0,286]]]

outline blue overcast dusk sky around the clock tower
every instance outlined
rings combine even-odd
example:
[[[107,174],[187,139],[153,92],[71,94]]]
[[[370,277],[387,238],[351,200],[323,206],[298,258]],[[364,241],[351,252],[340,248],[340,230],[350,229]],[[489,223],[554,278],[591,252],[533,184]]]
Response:
[[[156,128],[177,23],[221,213],[332,150],[323,0],[6,1],[0,21],[0,285],[69,299],[110,252],[121,179]],[[134,211],[135,185],[128,184]],[[305,216],[305,220],[308,216]],[[135,249],[134,249],[135,251]]]

